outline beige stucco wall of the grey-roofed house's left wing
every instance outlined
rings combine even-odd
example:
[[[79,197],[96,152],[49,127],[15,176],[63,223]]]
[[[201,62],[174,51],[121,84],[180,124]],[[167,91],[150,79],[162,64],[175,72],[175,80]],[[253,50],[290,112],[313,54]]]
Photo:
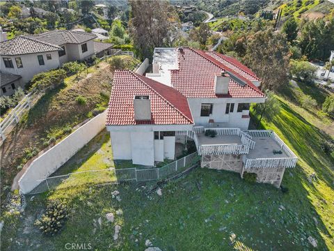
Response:
[[[47,60],[47,54],[51,54],[51,59]],[[38,55],[42,55],[45,65],[40,66],[38,63]],[[3,57],[12,59],[14,68],[6,68],[3,62]],[[23,68],[17,68],[15,58],[20,57]],[[37,73],[46,72],[51,69],[58,68],[60,66],[58,52],[42,52],[33,54],[23,54],[17,56],[1,56],[1,71],[3,73],[12,73],[22,76],[22,82],[29,82],[33,75]]]

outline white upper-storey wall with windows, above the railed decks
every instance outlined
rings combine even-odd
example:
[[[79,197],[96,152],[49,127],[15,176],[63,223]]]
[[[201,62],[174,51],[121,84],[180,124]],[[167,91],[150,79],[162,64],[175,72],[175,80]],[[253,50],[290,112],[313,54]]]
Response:
[[[226,123],[227,127],[238,127],[246,130],[249,118],[241,118],[242,112],[237,112],[238,104],[264,102],[264,100],[264,98],[189,98],[188,103],[196,124],[209,123],[209,119],[213,119],[214,123]],[[203,103],[213,104],[210,116],[200,116],[200,109]],[[234,103],[234,112],[225,114],[227,103]]]

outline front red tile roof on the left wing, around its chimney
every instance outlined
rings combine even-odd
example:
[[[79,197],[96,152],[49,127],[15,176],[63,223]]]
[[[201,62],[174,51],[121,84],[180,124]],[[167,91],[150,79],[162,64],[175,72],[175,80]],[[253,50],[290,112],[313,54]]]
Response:
[[[152,119],[134,120],[134,96],[150,96]],[[175,89],[129,70],[116,70],[106,126],[193,124],[188,101]]]

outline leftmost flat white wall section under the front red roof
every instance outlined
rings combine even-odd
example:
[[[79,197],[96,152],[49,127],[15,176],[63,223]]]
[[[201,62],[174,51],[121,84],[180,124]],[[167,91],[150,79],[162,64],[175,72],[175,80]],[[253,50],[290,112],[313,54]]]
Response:
[[[131,160],[131,137],[130,132],[110,132],[111,148],[114,160]]]

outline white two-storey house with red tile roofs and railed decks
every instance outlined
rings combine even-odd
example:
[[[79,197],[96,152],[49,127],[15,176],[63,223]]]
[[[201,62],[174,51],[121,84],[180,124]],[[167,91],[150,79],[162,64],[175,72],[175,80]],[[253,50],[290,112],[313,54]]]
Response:
[[[248,130],[250,103],[266,99],[260,81],[230,56],[156,48],[152,73],[114,75],[106,119],[113,158],[153,166],[193,142],[201,167],[256,173],[279,187],[297,158],[274,132]]]

